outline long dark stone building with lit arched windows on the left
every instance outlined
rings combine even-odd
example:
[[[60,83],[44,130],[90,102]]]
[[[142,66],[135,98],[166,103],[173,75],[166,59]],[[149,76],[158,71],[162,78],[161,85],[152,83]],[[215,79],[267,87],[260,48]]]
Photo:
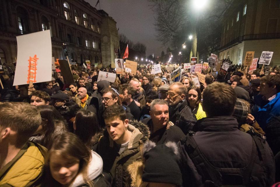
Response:
[[[70,62],[81,64],[90,60],[92,64],[100,64],[101,23],[97,9],[84,0],[1,0],[1,61],[13,66],[17,35],[49,29],[55,58],[65,59],[62,49],[65,43]]]

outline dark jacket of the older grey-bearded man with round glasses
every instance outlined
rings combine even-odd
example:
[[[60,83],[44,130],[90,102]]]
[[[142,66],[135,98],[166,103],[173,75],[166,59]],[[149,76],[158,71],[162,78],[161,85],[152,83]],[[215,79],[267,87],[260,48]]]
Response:
[[[169,107],[169,120],[180,127],[184,134],[192,130],[196,123],[196,117],[188,106],[188,101],[184,100],[176,106]]]

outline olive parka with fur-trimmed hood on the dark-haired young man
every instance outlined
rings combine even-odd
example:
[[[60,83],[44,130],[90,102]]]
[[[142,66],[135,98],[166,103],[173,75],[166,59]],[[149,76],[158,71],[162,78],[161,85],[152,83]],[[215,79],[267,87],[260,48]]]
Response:
[[[97,153],[102,157],[103,169],[109,172],[113,178],[115,187],[129,187],[131,177],[127,171],[127,166],[136,160],[141,160],[141,149],[150,135],[149,129],[143,123],[131,121],[127,129],[132,132],[128,146],[119,154],[116,143],[108,133],[104,133],[97,145]]]

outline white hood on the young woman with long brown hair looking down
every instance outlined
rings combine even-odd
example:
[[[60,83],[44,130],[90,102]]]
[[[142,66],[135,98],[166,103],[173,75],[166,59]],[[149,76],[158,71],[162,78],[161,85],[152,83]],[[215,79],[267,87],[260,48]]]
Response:
[[[88,164],[88,179],[92,181],[102,173],[103,161],[102,158],[94,151],[91,151],[91,157],[91,161]],[[82,174],[79,174],[70,187],[81,186],[85,183],[86,181],[84,181]]]

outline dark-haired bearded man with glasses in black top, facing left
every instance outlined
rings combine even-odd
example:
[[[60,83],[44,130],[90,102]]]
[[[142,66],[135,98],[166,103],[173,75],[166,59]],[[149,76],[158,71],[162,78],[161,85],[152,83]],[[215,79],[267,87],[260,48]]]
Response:
[[[132,115],[134,116],[134,119],[139,120],[141,111],[133,100],[134,94],[135,90],[132,86],[126,86],[122,89],[123,101],[127,104],[127,107],[130,109]]]

